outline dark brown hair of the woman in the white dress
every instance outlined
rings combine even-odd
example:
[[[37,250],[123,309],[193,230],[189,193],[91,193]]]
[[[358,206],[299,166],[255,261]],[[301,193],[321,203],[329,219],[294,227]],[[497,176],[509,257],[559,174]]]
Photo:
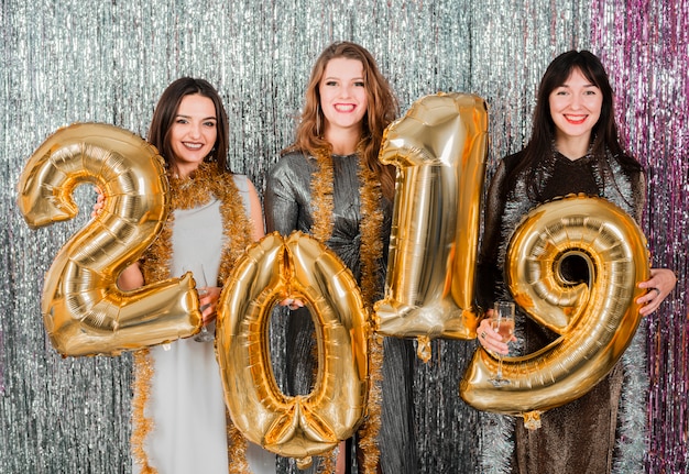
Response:
[[[229,151],[227,112],[225,111],[218,91],[205,79],[182,77],[167,86],[153,111],[153,119],[151,120],[151,128],[149,129],[149,143],[161,152],[168,167],[175,162],[176,156],[169,143],[169,132],[175,117],[177,115],[182,99],[193,95],[209,98],[216,107],[216,117],[218,118],[216,125],[217,137],[206,161],[215,161],[220,173],[229,172],[227,167],[227,155]]]

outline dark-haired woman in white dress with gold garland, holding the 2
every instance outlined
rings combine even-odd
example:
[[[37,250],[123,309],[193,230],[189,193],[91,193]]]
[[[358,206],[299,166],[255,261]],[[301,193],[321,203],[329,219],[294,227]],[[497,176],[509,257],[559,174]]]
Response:
[[[259,196],[227,169],[228,119],[215,88],[181,78],[161,96],[149,142],[165,159],[171,216],[142,260],[119,278],[122,289],[193,272],[204,326],[212,334],[222,282],[247,245],[264,234]],[[228,437],[214,343],[183,339],[135,354],[132,401],[134,472],[226,474],[230,463],[275,473],[275,455]],[[236,432],[234,432],[236,433]],[[239,463],[239,464],[237,464]]]

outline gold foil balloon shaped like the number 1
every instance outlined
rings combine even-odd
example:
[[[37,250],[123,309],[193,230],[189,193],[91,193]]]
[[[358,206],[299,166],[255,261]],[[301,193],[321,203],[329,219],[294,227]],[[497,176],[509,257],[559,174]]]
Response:
[[[379,157],[397,167],[397,184],[379,333],[475,338],[486,142],[485,101],[464,93],[426,96],[386,129]]]

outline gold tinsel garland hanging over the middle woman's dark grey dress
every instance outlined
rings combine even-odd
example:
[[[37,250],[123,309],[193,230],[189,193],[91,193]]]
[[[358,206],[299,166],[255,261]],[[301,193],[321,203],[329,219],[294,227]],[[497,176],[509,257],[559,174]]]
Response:
[[[332,157],[326,150],[315,155],[318,169],[311,177],[314,223],[311,234],[326,243],[332,235],[333,228],[333,168]],[[378,296],[379,262],[383,255],[383,212],[379,207],[382,200],[380,180],[374,172],[365,166],[358,153],[360,181],[361,222],[361,293],[369,315],[372,315],[373,302]],[[372,321],[370,321],[372,323]],[[380,451],[378,434],[381,427],[381,381],[383,365],[382,339],[371,331],[369,343],[369,401],[365,420],[359,430],[359,445],[363,451],[363,472],[375,473]]]

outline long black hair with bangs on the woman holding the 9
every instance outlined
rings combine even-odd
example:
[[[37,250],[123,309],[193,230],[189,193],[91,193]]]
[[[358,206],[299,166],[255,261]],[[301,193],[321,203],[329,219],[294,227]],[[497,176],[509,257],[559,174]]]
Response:
[[[608,73],[601,60],[589,51],[568,51],[557,56],[546,69],[536,100],[534,110],[534,121],[532,136],[524,148],[521,162],[515,166],[508,179],[514,185],[514,180],[523,170],[531,169],[527,178],[527,192],[529,197],[537,198],[538,183],[534,174],[539,161],[553,154],[553,141],[555,139],[555,122],[550,113],[550,93],[562,86],[572,71],[578,69],[603,96],[601,115],[591,130],[593,139],[591,143],[591,154],[597,158],[602,169],[610,169],[605,159],[606,152],[610,152],[626,172],[638,172],[641,164],[627,155],[620,145],[617,136],[617,124],[615,122],[614,97]]]

